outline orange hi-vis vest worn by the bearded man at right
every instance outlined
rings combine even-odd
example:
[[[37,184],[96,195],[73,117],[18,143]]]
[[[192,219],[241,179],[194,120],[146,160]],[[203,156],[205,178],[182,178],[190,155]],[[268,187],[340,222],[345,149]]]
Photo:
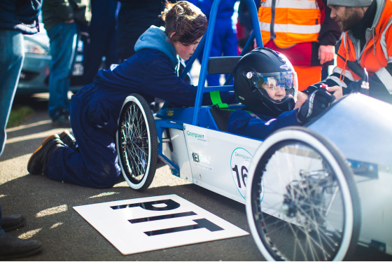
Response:
[[[363,50],[361,51],[359,40],[355,39],[351,32],[344,32],[338,53],[346,60],[359,61],[360,66],[366,68],[369,76],[377,74],[389,92],[392,92],[391,74],[384,69],[388,62],[392,62],[392,37],[388,37],[392,34],[392,0],[382,2],[385,3],[384,9],[378,18],[374,18],[374,21],[378,20],[379,22],[372,29],[367,29],[367,34],[372,37],[369,38]],[[381,1],[377,1],[377,5],[379,4],[381,4]],[[377,9],[379,8],[381,7],[377,6]],[[351,76],[345,74],[347,70],[351,73]],[[351,81],[360,79],[360,76],[354,74],[347,67],[346,62],[340,58],[337,58],[337,68],[334,69],[334,72],[341,74],[341,81],[344,80],[345,75]]]

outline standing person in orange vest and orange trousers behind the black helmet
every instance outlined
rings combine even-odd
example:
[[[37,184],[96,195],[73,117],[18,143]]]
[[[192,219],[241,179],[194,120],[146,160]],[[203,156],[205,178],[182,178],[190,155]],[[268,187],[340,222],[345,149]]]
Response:
[[[300,91],[321,81],[322,66],[333,64],[342,32],[330,12],[327,0],[260,0],[262,43],[288,57]]]

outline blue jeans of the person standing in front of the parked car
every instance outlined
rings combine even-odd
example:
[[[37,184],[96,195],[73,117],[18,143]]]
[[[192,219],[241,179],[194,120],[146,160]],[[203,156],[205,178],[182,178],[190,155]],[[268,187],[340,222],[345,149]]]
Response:
[[[60,23],[47,32],[52,63],[49,76],[49,116],[54,120],[69,113],[69,83],[76,52],[76,23]]]

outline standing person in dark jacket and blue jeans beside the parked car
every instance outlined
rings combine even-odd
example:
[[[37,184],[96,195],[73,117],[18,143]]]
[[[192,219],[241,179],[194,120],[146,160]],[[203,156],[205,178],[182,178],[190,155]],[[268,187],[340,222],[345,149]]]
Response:
[[[90,0],[46,0],[42,20],[50,41],[49,116],[53,127],[69,123],[69,83],[78,40],[78,26],[90,24]]]

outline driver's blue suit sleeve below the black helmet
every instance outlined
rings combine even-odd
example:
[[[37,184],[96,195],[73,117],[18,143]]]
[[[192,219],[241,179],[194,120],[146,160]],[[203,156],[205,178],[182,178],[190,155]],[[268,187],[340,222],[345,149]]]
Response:
[[[283,112],[276,118],[236,110],[230,114],[228,132],[264,140],[275,130],[292,125],[300,125],[297,109]]]

